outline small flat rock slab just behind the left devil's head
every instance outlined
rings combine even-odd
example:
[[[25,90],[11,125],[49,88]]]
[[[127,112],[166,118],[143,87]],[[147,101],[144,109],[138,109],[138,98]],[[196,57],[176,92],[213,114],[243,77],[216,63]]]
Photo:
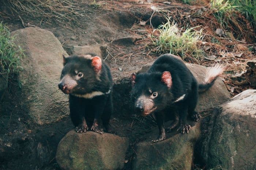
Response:
[[[73,46],[73,54],[86,54],[94,53],[101,58],[105,58],[108,47],[106,45],[95,45],[95,46]]]

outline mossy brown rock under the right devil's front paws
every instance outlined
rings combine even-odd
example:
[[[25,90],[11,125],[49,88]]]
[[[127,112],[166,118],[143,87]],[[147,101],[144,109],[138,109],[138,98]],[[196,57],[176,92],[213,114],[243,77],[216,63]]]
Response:
[[[157,133],[156,133],[157,134]],[[193,145],[199,138],[199,123],[189,134],[172,132],[162,142],[142,142],[136,146],[136,158],[132,164],[136,170],[191,170]]]

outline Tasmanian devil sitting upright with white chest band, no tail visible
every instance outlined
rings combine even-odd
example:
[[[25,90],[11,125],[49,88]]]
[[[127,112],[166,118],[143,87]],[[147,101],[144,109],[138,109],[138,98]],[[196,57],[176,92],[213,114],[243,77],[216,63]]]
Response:
[[[63,56],[59,88],[69,94],[70,116],[76,132],[108,130],[112,114],[113,81],[109,67],[94,54]]]

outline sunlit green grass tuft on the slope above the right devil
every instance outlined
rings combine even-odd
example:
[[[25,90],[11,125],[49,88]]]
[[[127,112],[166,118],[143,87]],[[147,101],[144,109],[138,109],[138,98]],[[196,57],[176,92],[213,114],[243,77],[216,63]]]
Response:
[[[166,18],[167,22],[160,25],[153,31],[153,43],[157,46],[157,52],[172,53],[180,57],[194,57],[199,58],[203,50],[200,49],[198,42],[203,39],[202,29],[200,31],[193,31],[194,28],[188,28],[184,32],[178,29],[176,23],[171,22],[170,18]],[[154,32],[159,32],[159,36],[154,37]]]

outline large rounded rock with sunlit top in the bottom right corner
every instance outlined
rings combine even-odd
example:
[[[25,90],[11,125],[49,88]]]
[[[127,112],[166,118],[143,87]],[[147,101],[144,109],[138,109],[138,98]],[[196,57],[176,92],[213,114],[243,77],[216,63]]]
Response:
[[[200,142],[208,169],[256,169],[256,90],[245,90],[212,116]]]

